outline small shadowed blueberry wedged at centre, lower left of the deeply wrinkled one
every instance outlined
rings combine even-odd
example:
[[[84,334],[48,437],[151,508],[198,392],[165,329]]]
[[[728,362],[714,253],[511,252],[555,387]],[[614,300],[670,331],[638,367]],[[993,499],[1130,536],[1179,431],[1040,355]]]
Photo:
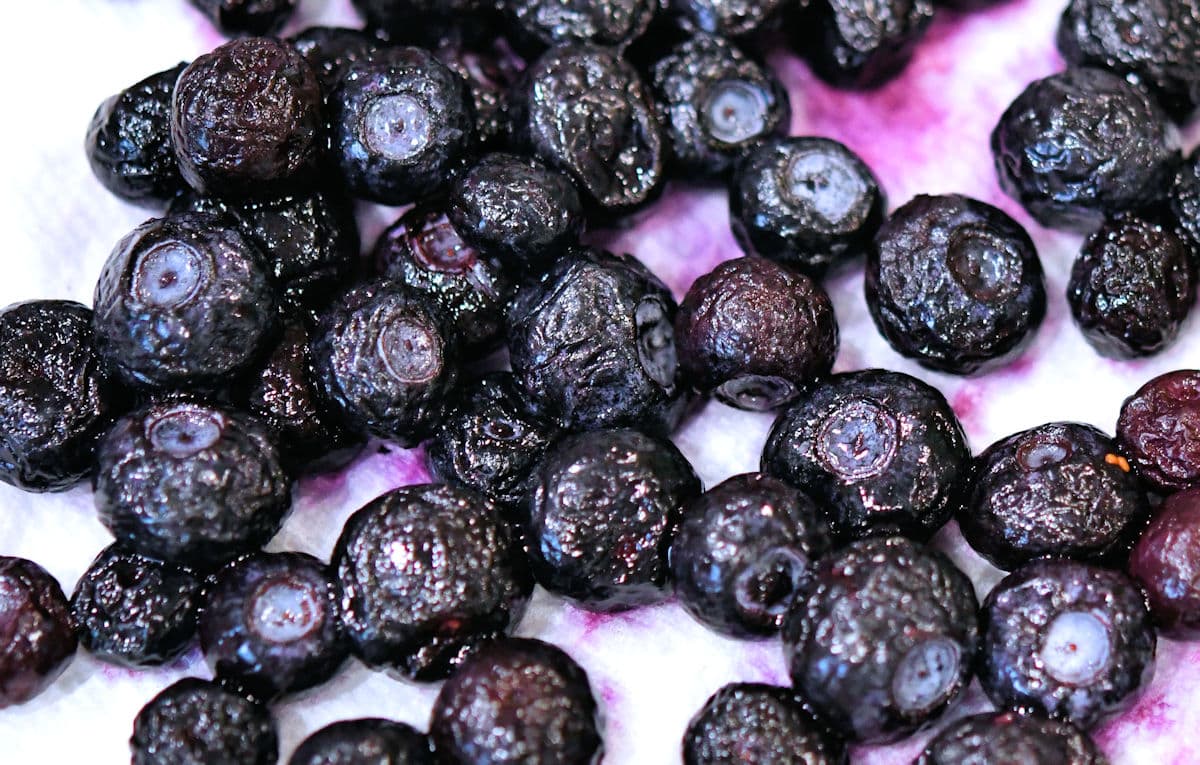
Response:
[[[425,453],[438,478],[463,483],[502,507],[512,507],[558,434],[557,426],[526,410],[512,375],[496,372],[462,388]]]

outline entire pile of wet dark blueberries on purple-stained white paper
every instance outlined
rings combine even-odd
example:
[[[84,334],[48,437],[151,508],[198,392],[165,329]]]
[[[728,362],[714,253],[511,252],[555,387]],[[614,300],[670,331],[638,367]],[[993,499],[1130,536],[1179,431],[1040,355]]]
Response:
[[[961,195],[888,216],[854,153],[785,137],[787,92],[749,53],[786,36],[829,83],[880,86],[929,0],[358,0],[366,30],[289,40],[264,35],[294,0],[193,2],[236,38],[113,96],[86,138],[104,186],[162,217],[116,245],[91,309],[0,312],[0,478],[90,478],[115,537],[70,600],[0,558],[0,707],[77,643],[145,667],[198,637],[215,680],[146,704],[134,763],[275,763],[269,705],[352,655],[445,680],[428,735],[347,721],[293,765],[594,763],[583,669],[506,637],[536,583],[781,634],[793,687],[722,688],[689,764],[840,763],[978,677],[1001,711],[920,763],[1082,765],[1156,632],[1200,638],[1200,372],[1150,381],[1116,439],[1049,423],[979,456],[929,385],[830,373],[820,279],[864,255],[878,329],[932,369],[1006,363],[1045,313],[1020,224]],[[1200,247],[1200,157],[1172,124],[1200,103],[1200,11],[1136,8],[1072,0],[1072,68],[992,135],[1008,193],[1090,231],[1069,301],[1116,357],[1175,339]],[[582,243],[668,176],[726,183],[746,251],[678,306]],[[412,205],[367,258],[355,199]],[[708,396],[780,415],[761,472],[704,492],[668,436]],[[328,565],[263,552],[293,480],[372,438],[424,442],[442,483],[355,512]],[[950,519],[1012,572],[982,606],[928,546]]]

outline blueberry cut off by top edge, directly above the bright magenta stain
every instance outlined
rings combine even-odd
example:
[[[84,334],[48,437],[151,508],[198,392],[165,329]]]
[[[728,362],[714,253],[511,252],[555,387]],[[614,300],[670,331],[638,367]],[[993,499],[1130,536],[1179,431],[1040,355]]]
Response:
[[[797,24],[797,48],[823,80],[869,90],[908,65],[934,20],[930,0],[815,0]]]

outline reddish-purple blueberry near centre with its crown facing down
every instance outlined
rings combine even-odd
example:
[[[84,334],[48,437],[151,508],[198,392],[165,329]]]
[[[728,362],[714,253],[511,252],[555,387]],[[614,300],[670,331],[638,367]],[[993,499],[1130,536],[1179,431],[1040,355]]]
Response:
[[[757,257],[726,260],[679,305],[680,375],[731,406],[768,410],[829,374],[838,318],[820,284]]]

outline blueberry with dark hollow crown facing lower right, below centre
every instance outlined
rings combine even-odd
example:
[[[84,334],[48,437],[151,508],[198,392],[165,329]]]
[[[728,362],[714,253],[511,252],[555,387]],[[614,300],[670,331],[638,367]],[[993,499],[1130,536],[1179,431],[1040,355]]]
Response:
[[[718,632],[770,636],[829,548],[812,500],[770,476],[734,476],[683,511],[671,544],[674,591]]]

